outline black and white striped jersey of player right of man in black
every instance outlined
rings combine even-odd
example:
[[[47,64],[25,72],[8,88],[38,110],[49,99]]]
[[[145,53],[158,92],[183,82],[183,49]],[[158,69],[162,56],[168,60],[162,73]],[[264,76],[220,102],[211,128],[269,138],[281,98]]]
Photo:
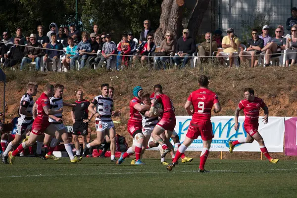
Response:
[[[92,104],[96,105],[96,111],[100,114],[100,118],[96,118],[96,120],[105,122],[112,121],[111,111],[113,100],[111,98],[104,98],[102,95],[99,95],[92,100]]]

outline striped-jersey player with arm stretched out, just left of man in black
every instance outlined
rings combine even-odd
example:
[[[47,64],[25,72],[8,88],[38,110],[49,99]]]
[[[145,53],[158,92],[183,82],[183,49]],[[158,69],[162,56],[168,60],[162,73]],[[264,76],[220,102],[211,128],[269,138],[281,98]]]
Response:
[[[76,105],[76,104],[68,104],[66,102],[63,102],[63,98],[62,98],[63,93],[64,93],[63,85],[57,84],[54,86],[54,95],[49,98],[51,110],[57,111],[58,109],[63,108],[63,106],[73,107]],[[52,139],[49,134],[45,134],[45,141],[44,141],[45,145],[49,144],[49,150],[48,150],[48,153],[46,154],[46,158],[59,160],[59,158],[54,156],[52,152],[56,147],[56,145],[58,144],[59,140],[62,139],[64,142],[64,147],[70,157],[70,162],[71,163],[79,162],[82,158],[78,158],[77,156],[73,155],[72,148],[68,139],[68,133],[64,127],[62,118],[63,118],[62,112],[49,115],[49,123],[53,124],[56,127],[57,132],[55,132],[55,137]]]

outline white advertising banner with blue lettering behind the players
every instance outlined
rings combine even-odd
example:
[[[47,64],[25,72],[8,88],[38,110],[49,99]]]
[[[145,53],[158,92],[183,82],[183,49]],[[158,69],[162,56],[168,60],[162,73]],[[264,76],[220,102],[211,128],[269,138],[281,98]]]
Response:
[[[269,152],[283,152],[284,148],[284,117],[269,117],[268,123],[262,122],[263,117],[259,117],[258,131],[264,139],[264,143]],[[175,131],[183,143],[192,116],[176,116]],[[247,132],[243,127],[245,116],[239,116],[239,130],[234,129],[234,116],[213,116],[211,117],[212,131],[214,138],[211,143],[210,151],[229,151],[228,142],[247,137]],[[172,142],[172,141],[171,141]],[[173,143],[173,142],[172,142]],[[174,145],[174,144],[173,144]],[[194,140],[187,150],[201,151],[202,140],[199,136]],[[159,148],[152,148],[157,150]],[[176,148],[175,148],[176,149]],[[260,151],[259,144],[254,141],[251,144],[240,144],[234,148],[234,151]]]

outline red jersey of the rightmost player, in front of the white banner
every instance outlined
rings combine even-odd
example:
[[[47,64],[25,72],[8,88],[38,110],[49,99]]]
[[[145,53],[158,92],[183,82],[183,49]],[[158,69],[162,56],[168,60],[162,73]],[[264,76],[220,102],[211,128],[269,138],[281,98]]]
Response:
[[[266,106],[263,99],[259,99],[255,97],[253,101],[248,101],[247,99],[243,99],[239,102],[238,107],[240,109],[244,109],[245,113],[245,125],[258,125],[259,123],[259,112],[260,107]]]

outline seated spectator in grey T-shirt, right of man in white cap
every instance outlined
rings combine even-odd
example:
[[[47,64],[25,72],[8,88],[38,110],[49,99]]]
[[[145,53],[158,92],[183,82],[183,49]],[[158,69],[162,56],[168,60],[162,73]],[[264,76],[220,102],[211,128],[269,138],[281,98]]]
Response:
[[[282,50],[286,49],[286,39],[283,38],[284,28],[279,25],[275,30],[275,37],[272,38],[271,42],[268,43],[261,51],[265,51],[265,67],[269,66],[270,57],[272,53],[281,53]],[[280,54],[276,54],[279,56]]]

